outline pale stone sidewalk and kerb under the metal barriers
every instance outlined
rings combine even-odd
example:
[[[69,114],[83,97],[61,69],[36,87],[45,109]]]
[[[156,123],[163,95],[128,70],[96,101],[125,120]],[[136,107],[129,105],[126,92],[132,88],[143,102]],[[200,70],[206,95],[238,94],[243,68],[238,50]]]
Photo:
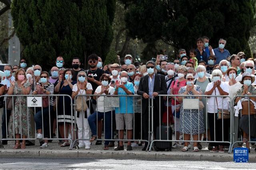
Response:
[[[12,144],[13,143],[13,144]],[[115,143],[117,145],[117,143]],[[40,149],[39,142],[36,141],[35,146],[28,146],[26,149],[12,149],[14,141],[8,141],[8,145],[0,148],[0,157],[47,157],[47,158],[98,158],[98,159],[146,159],[146,160],[204,160],[216,162],[233,161],[233,153],[211,153],[207,149],[207,143],[203,143],[203,149],[200,152],[194,152],[192,149],[182,152],[181,149],[172,149],[170,152],[142,151],[142,147],[134,148],[131,151],[121,150],[115,151],[114,148],[103,150],[104,145],[95,145],[95,141],[91,145],[90,150],[79,149],[69,150],[69,147],[59,147],[58,140],[49,143],[48,149]],[[126,149],[126,144],[124,145]],[[249,162],[256,162],[256,151],[251,148],[249,154]]]

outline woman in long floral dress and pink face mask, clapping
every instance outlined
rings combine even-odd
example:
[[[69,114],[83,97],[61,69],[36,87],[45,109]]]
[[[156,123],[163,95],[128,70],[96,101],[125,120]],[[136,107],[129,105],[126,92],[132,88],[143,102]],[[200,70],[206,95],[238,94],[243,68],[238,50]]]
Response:
[[[25,77],[25,70],[20,68],[15,73],[15,81],[11,81],[10,88],[8,90],[8,95],[28,95],[30,93],[30,83],[27,82]],[[17,97],[14,100],[14,110],[10,115],[9,121],[9,136],[11,138],[27,138],[28,131],[31,133],[31,127],[28,123],[30,121],[30,110],[27,107],[26,96]],[[22,131],[22,136],[20,134]],[[31,136],[31,134],[29,134]],[[13,149],[25,149],[26,140],[22,140],[22,145],[20,145],[20,140],[16,140]]]

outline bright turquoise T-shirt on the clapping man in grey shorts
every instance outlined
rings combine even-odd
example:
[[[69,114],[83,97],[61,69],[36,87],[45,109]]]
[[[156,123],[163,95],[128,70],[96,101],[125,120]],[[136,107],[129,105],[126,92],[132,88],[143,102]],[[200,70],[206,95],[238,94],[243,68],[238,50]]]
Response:
[[[134,94],[134,87],[131,82],[127,82],[124,86]],[[118,88],[118,95],[127,95],[122,88]],[[127,98],[127,109],[126,109]],[[116,113],[134,113],[133,110],[133,97],[121,96],[119,97],[119,107],[116,107]]]

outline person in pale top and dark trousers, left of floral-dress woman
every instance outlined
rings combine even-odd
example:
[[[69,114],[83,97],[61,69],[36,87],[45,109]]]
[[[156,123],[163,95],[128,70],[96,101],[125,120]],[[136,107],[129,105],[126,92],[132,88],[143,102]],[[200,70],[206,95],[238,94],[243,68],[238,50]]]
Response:
[[[8,90],[11,86],[11,82],[13,82],[14,80],[15,80],[15,77],[12,76],[12,66],[9,65],[9,64],[5,65],[4,66],[4,77],[2,78],[2,81],[1,81],[1,84],[4,86],[4,94],[7,94]],[[4,108],[3,109],[3,115],[1,117],[1,119],[2,119],[2,138],[6,139],[7,138],[7,135],[6,135],[7,134],[6,133],[6,120],[7,120],[7,126],[8,126],[11,111],[6,110],[5,105],[4,105],[3,108]],[[5,114],[5,111],[6,111],[6,114]],[[7,145],[7,143],[8,143],[8,141],[2,141],[3,145]]]

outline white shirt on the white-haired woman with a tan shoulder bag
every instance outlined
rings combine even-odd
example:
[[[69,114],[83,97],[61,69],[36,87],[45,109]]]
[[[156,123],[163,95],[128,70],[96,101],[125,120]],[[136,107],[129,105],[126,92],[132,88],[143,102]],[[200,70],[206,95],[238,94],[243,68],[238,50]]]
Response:
[[[213,84],[214,84],[214,82],[209,83],[208,86],[206,87],[205,91],[206,92],[210,91],[213,87]],[[228,86],[224,82],[221,82],[220,88],[222,88],[222,90],[224,92],[229,93]],[[215,92],[216,92],[216,94],[215,94]],[[212,92],[211,95],[216,95],[216,96],[220,95],[218,88],[215,88],[215,90]],[[216,98],[218,101],[218,106],[217,106]],[[214,110],[214,107],[215,107],[215,110]],[[223,98],[223,102],[222,102],[222,97],[208,97],[208,101],[207,101],[207,112],[208,113],[218,113],[218,108],[222,109],[222,107],[223,107],[223,109],[228,109],[227,98]]]

